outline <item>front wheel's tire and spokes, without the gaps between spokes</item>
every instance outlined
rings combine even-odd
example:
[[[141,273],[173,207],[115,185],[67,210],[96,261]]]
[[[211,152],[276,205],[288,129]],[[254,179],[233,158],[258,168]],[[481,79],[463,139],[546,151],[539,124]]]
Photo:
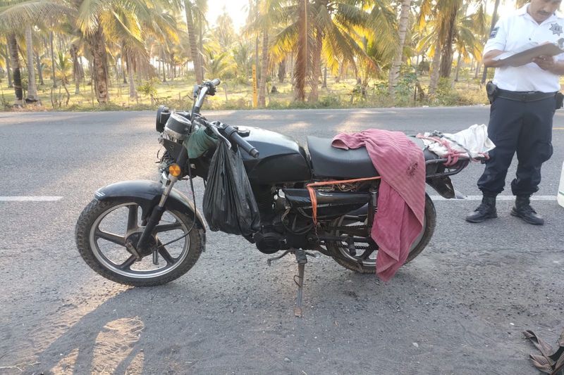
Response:
[[[125,284],[130,286],[157,286],[166,284],[174,279],[178,279],[178,277],[182,276],[186,272],[188,272],[197,262],[198,258],[200,258],[200,254],[202,253],[203,248],[203,239],[200,234],[200,229],[197,227],[192,227],[193,217],[188,217],[183,212],[179,212],[176,210],[166,210],[168,212],[169,217],[174,218],[174,222],[166,222],[166,224],[170,227],[173,226],[173,229],[166,229],[162,227],[162,230],[154,234],[152,239],[154,239],[154,247],[160,246],[162,243],[166,243],[166,240],[159,239],[159,235],[165,232],[176,231],[179,232],[178,234],[171,234],[173,239],[182,236],[181,233],[186,234],[188,230],[192,228],[190,234],[185,237],[185,239],[181,239],[177,241],[177,245],[182,244],[182,250],[178,257],[173,257],[170,250],[167,247],[164,248],[164,255],[160,255],[160,261],[166,262],[164,267],[160,267],[157,269],[133,269],[134,265],[140,264],[140,262],[133,261],[135,258],[123,245],[125,243],[125,239],[128,238],[133,234],[132,239],[136,239],[142,231],[142,225],[130,224],[133,220],[129,220],[129,217],[126,219],[127,224],[127,231],[123,236],[120,236],[118,233],[114,235],[114,231],[106,232],[100,228],[100,224],[103,222],[104,218],[109,216],[112,212],[116,212],[116,210],[120,210],[121,208],[125,208],[129,212],[135,210],[135,215],[131,215],[132,217],[135,216],[135,222],[137,222],[137,208],[140,208],[135,201],[123,201],[120,199],[111,200],[111,201],[98,201],[94,199],[90,202],[89,205],[82,210],[80,217],[78,218],[78,222],[76,223],[75,228],[75,241],[78,247],[78,252],[82,259],[85,260],[87,265],[90,268],[94,269],[95,272],[102,275],[106,279],[111,281],[115,281],[119,284]],[[118,220],[114,220],[116,224],[118,224]],[[163,224],[163,220],[159,222],[159,224]],[[123,226],[122,226],[123,227]],[[113,246],[112,255],[114,253],[119,254],[120,258],[127,258],[125,262],[114,262],[109,257],[106,256],[104,251],[102,250],[101,246],[99,246],[99,240],[102,239],[111,246]],[[168,239],[167,239],[168,240]],[[183,242],[184,241],[184,242]],[[175,243],[171,243],[171,247],[174,246]],[[117,250],[115,250],[117,249]],[[166,255],[166,256],[165,256]],[[142,261],[145,261],[147,265],[150,266],[150,262],[145,260],[145,258],[152,259],[152,254],[146,254]],[[130,260],[131,259],[131,260]],[[126,265],[129,262],[131,263],[128,267],[121,267]]]

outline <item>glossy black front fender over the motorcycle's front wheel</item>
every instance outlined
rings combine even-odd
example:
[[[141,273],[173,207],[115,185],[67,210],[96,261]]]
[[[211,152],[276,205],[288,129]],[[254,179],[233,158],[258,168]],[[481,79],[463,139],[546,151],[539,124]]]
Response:
[[[109,201],[111,199],[123,199],[124,201],[135,201],[141,206],[143,219],[146,219],[155,205],[159,204],[164,187],[159,182],[148,180],[132,180],[109,184],[96,191],[95,198],[98,201]],[[194,207],[194,203],[177,189],[172,189],[166,199],[166,208],[184,212],[188,217],[196,214],[195,226],[197,229],[206,231],[204,219],[200,211]]]

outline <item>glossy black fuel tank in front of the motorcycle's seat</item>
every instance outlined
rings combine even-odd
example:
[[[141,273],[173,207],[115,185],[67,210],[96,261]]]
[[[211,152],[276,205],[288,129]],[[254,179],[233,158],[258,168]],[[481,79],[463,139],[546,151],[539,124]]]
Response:
[[[259,151],[259,158],[256,159],[241,152],[252,185],[302,182],[311,179],[309,156],[293,138],[259,127],[245,129],[249,130],[248,135],[245,132],[240,132],[240,135]]]

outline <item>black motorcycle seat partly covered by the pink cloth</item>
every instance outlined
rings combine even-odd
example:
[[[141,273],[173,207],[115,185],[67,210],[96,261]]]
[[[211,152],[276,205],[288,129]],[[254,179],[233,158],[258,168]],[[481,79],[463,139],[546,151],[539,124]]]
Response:
[[[429,151],[421,139],[410,138],[422,148],[425,160],[436,160],[439,156]],[[317,177],[338,179],[361,179],[379,176],[366,148],[343,150],[331,146],[331,139],[317,136],[307,137],[307,148],[312,160],[313,174]],[[437,165],[427,165],[427,174],[434,173]]]

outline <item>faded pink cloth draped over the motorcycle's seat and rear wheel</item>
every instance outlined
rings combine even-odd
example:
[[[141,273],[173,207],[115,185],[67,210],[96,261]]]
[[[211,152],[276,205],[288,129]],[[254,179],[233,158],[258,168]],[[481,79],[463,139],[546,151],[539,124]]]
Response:
[[[366,147],[382,177],[371,236],[379,246],[376,274],[383,281],[388,281],[405,263],[412,243],[423,229],[423,152],[402,132],[381,129],[338,134],[331,145],[345,150]]]

